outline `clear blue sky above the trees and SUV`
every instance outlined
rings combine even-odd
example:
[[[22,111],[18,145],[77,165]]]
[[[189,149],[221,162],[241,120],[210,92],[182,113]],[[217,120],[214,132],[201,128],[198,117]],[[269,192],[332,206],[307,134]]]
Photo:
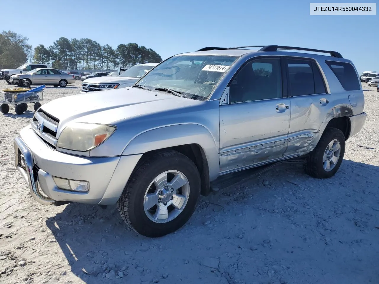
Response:
[[[0,30],[27,36],[33,47],[61,36],[114,48],[136,42],[163,59],[206,46],[292,45],[335,50],[360,73],[379,71],[379,16],[310,16],[310,2],[316,1],[35,0],[20,12],[15,7],[24,4],[0,0],[9,7]]]

